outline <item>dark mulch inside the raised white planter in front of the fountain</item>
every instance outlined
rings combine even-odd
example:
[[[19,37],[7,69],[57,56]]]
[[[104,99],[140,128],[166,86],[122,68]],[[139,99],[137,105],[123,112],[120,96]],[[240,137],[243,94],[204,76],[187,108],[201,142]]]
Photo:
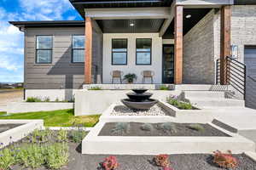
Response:
[[[104,127],[102,127],[99,136],[218,136],[218,137],[230,137],[230,135],[219,131],[217,128],[212,127],[209,124],[197,124],[204,127],[203,130],[197,131],[189,127],[193,123],[174,123],[177,132],[171,133],[168,131],[164,131],[159,129],[161,123],[151,123],[154,127],[150,131],[145,131],[141,129],[141,126],[144,123],[141,122],[130,122],[130,128],[127,132],[118,132],[113,133],[113,129],[115,128],[116,122],[107,122]]]

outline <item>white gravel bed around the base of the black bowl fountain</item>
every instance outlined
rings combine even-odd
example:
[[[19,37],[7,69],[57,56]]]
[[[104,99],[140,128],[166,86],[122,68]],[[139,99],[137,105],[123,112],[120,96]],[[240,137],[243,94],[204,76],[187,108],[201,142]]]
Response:
[[[117,105],[113,108],[112,116],[166,116],[166,111],[159,105],[154,105],[148,111],[134,111],[125,105]]]

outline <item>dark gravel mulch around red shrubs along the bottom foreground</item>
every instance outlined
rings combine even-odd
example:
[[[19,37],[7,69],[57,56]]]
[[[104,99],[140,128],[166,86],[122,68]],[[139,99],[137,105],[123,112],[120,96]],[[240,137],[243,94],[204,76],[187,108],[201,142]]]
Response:
[[[81,155],[80,144],[69,144],[70,156],[66,167],[61,170],[102,170],[100,162],[107,156],[104,155]],[[156,146],[157,147],[157,146]],[[234,155],[239,162],[239,166],[233,170],[255,170],[256,162],[246,155]],[[119,162],[117,170],[160,170],[153,163],[154,156],[116,156]],[[194,155],[171,155],[170,162],[174,170],[224,170],[212,163],[210,154]],[[26,168],[15,166],[13,170],[28,170]],[[47,170],[45,167],[38,170]]]

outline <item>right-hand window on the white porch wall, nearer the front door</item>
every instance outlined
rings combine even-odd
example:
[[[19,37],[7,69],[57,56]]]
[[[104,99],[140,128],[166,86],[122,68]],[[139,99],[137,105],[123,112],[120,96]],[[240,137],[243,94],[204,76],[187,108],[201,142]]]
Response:
[[[151,65],[151,45],[149,38],[136,39],[136,64]]]

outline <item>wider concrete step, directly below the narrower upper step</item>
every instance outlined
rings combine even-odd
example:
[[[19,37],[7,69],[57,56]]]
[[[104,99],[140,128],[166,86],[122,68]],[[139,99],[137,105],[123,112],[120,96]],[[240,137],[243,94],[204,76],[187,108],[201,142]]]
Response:
[[[245,101],[240,99],[189,98],[190,103],[199,108],[207,107],[244,107]]]

